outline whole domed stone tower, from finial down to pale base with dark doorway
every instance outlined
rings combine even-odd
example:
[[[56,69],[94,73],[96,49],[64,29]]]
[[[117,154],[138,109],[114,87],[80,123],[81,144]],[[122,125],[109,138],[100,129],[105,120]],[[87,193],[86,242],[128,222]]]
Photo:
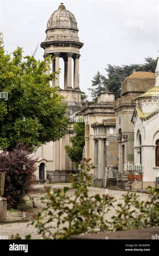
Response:
[[[79,86],[79,58],[83,43],[78,38],[77,21],[73,14],[66,10],[63,3],[50,16],[45,32],[45,41],[40,45],[45,51],[44,58],[48,55],[54,57],[52,67],[48,67],[47,73],[58,70],[59,58],[63,58],[64,61],[63,89],[60,88],[62,86],[59,86],[60,75],[56,75],[57,79],[53,79],[52,87],[59,86],[58,92],[65,97],[63,101],[67,104],[67,116],[70,117],[70,123],[68,133],[63,138],[42,145],[38,149],[39,172],[37,171],[36,176],[40,177],[39,179],[52,177],[52,182],[60,182],[66,180],[67,174],[75,170],[64,146],[71,145],[70,137],[74,135],[72,117],[83,108]],[[73,77],[72,64],[74,67]]]

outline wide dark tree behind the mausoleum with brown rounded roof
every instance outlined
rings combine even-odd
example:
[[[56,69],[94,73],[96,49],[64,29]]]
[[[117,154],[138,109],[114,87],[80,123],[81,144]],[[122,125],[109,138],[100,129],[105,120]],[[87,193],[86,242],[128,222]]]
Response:
[[[121,83],[126,77],[138,71],[155,72],[157,59],[154,60],[151,57],[144,59],[144,64],[130,64],[122,66],[112,66],[108,64],[108,68],[105,68],[108,72],[107,88],[108,91],[115,92],[115,99],[121,96]]]

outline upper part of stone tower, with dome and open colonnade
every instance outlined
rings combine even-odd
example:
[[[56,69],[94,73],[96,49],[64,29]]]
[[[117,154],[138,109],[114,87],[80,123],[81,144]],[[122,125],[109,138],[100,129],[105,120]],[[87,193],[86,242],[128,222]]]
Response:
[[[63,58],[64,61],[64,90],[59,89],[60,93],[67,97],[67,102],[74,102],[74,107],[82,107],[79,87],[79,58],[81,56],[79,50],[84,44],[79,41],[77,21],[74,15],[66,10],[63,3],[50,16],[45,32],[45,41],[40,46],[45,50],[44,57],[48,54],[54,57],[52,72],[58,70],[59,58]],[[74,62],[73,78],[72,59]],[[60,85],[59,75],[56,77],[57,79],[52,81],[53,87]],[[74,110],[78,111],[78,109]],[[69,112],[72,114],[71,110]]]

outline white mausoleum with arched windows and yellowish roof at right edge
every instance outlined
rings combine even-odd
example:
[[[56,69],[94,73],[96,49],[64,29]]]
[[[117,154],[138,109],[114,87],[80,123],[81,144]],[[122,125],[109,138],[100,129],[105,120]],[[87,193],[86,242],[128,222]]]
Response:
[[[159,178],[159,58],[153,88],[136,98],[131,122],[134,124],[134,162],[143,165],[143,186],[155,186]]]

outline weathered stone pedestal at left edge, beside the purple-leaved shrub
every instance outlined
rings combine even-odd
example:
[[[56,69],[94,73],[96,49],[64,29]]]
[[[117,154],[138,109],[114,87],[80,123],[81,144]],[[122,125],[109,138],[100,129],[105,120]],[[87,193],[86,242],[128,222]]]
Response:
[[[5,173],[0,172],[0,221],[7,219],[7,199],[2,197],[4,194]]]

